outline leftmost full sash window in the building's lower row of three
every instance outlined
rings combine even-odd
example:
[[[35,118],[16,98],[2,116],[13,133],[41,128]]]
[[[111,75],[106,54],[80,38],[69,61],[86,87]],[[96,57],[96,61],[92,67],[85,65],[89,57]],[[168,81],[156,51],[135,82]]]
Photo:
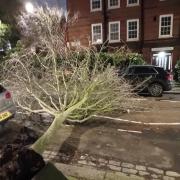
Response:
[[[92,24],[92,44],[101,44],[102,43],[102,24]]]

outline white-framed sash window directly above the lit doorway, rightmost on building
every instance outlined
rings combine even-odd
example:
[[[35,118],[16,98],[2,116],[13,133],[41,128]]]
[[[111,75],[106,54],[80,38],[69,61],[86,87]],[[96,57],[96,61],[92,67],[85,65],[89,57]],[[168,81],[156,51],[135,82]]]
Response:
[[[173,15],[161,15],[159,22],[159,37],[172,37]]]

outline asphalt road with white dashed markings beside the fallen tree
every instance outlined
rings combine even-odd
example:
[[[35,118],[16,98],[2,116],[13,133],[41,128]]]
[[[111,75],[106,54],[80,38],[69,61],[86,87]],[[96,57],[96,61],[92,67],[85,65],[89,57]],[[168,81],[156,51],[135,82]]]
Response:
[[[116,114],[112,118],[146,124],[101,117],[83,125],[65,126],[48,148],[58,154],[53,161],[77,164],[82,156],[87,156],[180,172],[180,95],[145,99],[140,103],[146,108],[145,112]],[[166,124],[148,125],[152,122]],[[14,129],[13,123],[0,135],[1,145],[15,137],[17,128]],[[99,168],[98,163],[96,165]]]

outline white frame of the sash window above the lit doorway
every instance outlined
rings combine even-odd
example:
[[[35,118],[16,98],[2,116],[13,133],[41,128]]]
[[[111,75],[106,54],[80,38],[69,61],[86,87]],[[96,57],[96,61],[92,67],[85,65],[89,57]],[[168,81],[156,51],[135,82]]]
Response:
[[[163,17],[171,17],[171,29],[169,35],[161,35],[161,22]],[[159,38],[173,37],[173,19],[174,19],[173,14],[163,14],[159,16]]]

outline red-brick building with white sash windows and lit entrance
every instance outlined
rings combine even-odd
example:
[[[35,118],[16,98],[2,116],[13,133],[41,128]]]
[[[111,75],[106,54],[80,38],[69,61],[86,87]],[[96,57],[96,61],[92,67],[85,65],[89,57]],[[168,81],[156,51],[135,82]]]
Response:
[[[67,0],[67,10],[78,13],[72,45],[127,44],[167,70],[180,59],[180,0]]]

